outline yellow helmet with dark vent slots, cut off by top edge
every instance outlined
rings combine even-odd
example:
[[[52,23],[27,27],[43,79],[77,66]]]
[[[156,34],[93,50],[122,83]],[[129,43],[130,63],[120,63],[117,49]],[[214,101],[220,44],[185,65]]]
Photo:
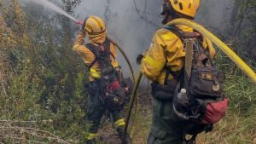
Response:
[[[200,0],[165,0],[170,2],[170,6],[177,14],[195,18],[197,9],[200,6]]]

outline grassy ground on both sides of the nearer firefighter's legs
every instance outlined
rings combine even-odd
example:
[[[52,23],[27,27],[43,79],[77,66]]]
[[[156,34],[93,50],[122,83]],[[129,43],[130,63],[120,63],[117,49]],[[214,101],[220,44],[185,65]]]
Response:
[[[199,144],[256,144],[256,87],[239,71],[225,82],[229,111],[214,130],[197,138]],[[145,97],[146,98],[146,97]],[[145,108],[146,107],[146,108]],[[135,144],[146,143],[151,124],[151,109],[141,104],[133,136]]]

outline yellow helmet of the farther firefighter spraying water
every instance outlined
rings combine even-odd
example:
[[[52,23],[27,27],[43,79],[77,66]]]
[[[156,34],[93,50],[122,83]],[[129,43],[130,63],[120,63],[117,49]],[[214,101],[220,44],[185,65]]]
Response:
[[[107,32],[105,22],[97,16],[89,16],[84,20],[84,32],[89,37],[99,37]]]

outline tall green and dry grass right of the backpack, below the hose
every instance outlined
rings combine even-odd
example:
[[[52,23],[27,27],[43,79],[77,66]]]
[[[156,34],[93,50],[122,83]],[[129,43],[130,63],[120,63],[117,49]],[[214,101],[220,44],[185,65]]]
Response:
[[[200,143],[241,143],[256,142],[256,88],[229,59],[218,54],[217,64],[226,73],[225,95],[229,98],[229,110],[215,128],[200,137]],[[255,68],[254,68],[255,70]]]

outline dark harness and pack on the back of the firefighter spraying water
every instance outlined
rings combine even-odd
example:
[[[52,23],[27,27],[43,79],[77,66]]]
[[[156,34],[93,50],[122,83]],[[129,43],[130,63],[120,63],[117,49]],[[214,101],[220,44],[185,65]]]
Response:
[[[124,105],[124,100],[126,97],[124,85],[120,82],[120,74],[115,70],[111,64],[111,56],[115,59],[114,55],[111,53],[110,45],[111,41],[106,38],[104,43],[92,43],[85,44],[85,47],[90,49],[90,51],[95,55],[95,60],[91,62],[88,69],[91,71],[91,67],[96,64],[100,66],[100,77],[96,78],[97,84],[100,88],[99,96],[106,106],[111,108],[122,108]]]

